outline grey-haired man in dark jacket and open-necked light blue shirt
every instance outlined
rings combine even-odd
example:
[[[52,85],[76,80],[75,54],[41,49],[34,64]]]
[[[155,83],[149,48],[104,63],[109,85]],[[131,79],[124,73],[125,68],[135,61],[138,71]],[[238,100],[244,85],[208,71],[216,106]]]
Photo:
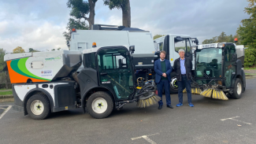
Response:
[[[174,61],[174,71],[176,72],[176,77],[178,81],[178,96],[179,104],[176,105],[180,107],[183,105],[183,90],[186,87],[187,90],[187,102],[188,105],[194,107],[191,102],[191,70],[192,70],[192,61],[188,57],[184,57],[185,51],[183,49],[179,50],[180,58],[177,58]]]

